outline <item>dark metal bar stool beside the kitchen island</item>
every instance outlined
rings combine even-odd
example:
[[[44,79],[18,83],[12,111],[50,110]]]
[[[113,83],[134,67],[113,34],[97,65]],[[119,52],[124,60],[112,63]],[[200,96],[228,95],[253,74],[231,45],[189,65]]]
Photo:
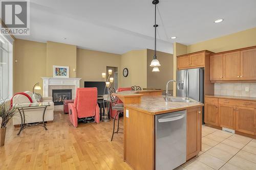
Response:
[[[109,88],[109,92],[110,92],[110,100],[111,100],[112,110],[116,110],[116,115],[114,117],[114,123],[113,123],[113,132],[112,132],[112,137],[111,137],[111,141],[112,141],[113,137],[114,137],[114,133],[122,133],[122,132],[119,132],[119,129],[123,129],[123,128],[119,128],[119,115],[121,112],[123,112],[123,103],[117,103],[118,98],[116,98],[115,96],[112,95],[112,93],[116,92],[113,87]],[[115,131],[116,116],[117,116],[117,131]]]

